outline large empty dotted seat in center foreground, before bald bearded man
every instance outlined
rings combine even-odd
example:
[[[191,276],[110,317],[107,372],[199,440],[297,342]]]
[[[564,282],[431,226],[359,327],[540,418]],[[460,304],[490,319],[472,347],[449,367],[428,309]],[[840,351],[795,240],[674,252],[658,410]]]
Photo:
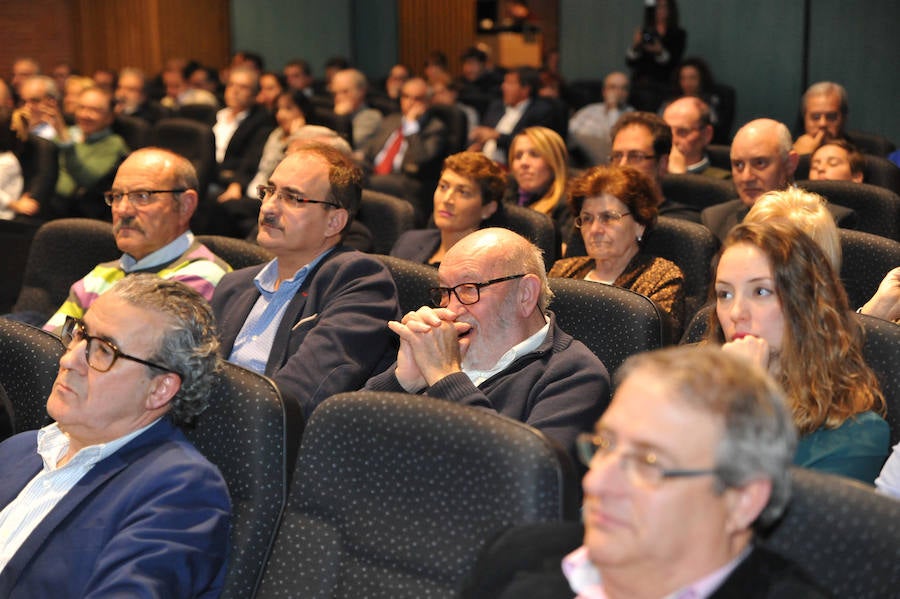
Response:
[[[257,597],[455,597],[507,526],[574,518],[562,448],[524,424],[425,396],[358,391],[303,436]]]

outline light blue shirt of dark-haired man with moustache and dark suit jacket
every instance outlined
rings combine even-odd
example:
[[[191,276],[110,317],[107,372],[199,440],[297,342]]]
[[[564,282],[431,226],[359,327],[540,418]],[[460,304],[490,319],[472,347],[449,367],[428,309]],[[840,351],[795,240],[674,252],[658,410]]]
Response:
[[[294,276],[278,283],[278,258],[266,264],[253,279],[259,289],[259,299],[250,310],[241,332],[234,340],[228,361],[254,372],[264,374],[275,335],[284,318],[288,303],[294,298],[306,277],[332,250],[329,249],[298,270]]]

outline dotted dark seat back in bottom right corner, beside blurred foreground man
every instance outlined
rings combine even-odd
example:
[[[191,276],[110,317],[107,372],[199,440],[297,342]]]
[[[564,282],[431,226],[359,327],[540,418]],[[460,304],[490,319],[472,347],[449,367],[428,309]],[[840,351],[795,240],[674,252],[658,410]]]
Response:
[[[896,597],[900,501],[846,478],[794,468],[786,514],[764,544],[792,559],[835,597]]]

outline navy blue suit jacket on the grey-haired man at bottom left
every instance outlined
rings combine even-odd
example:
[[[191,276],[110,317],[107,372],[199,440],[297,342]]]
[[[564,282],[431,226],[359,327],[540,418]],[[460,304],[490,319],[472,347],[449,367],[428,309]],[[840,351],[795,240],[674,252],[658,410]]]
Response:
[[[42,466],[37,431],[0,444],[0,507]],[[0,572],[0,597],[218,597],[230,513],[222,475],[164,417],[50,510]]]

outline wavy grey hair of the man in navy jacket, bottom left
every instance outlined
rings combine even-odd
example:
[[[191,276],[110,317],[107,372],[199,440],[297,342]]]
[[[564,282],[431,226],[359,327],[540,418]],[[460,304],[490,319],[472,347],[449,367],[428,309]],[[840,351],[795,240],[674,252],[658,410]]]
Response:
[[[127,276],[108,293],[166,317],[169,326],[147,359],[180,375],[181,388],[172,398],[169,414],[177,425],[191,424],[206,409],[219,368],[219,340],[209,303],[184,283],[151,274]]]

